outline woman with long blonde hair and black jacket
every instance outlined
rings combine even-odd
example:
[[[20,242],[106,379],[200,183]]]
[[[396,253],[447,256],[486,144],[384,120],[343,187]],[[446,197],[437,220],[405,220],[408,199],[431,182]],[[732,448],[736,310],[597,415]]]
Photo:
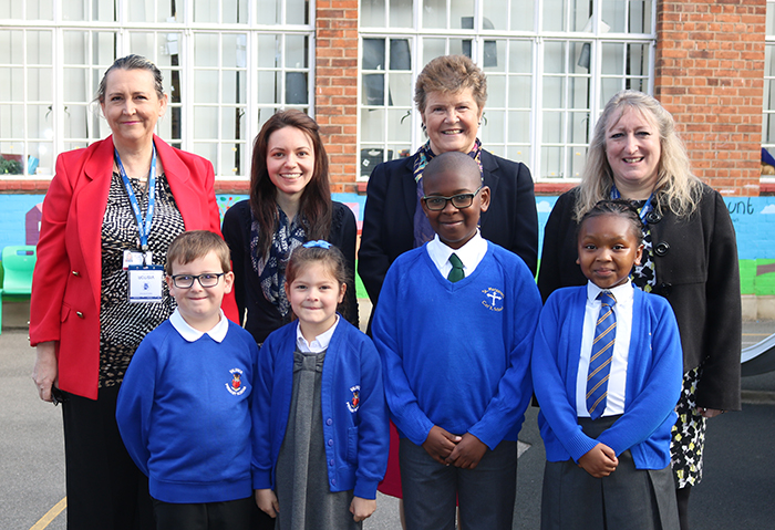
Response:
[[[671,457],[686,530],[689,493],[702,478],[705,420],[741,407],[734,228],[721,195],[692,175],[670,113],[647,94],[619,92],[597,123],[581,183],[557,200],[547,221],[538,274],[545,300],[586,283],[574,235],[581,216],[610,198],[631,200],[643,224],[633,283],[664,297],[679,323],[684,377]]]

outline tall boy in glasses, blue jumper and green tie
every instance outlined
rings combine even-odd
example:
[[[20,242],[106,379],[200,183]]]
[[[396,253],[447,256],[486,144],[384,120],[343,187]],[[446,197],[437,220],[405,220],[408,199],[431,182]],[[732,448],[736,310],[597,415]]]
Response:
[[[400,437],[407,530],[510,529],[517,434],[533,393],[533,274],[479,236],[489,188],[463,153],[434,157],[423,211],[436,237],[392,264],[372,333]]]

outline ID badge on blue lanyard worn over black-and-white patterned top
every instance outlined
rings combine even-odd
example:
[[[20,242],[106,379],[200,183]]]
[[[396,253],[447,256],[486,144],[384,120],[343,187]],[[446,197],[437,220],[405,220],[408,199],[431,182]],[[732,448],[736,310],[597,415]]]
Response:
[[[115,150],[115,158],[126,195],[130,197],[132,211],[137,221],[137,232],[140,233],[140,250],[124,250],[123,269],[127,273],[128,301],[132,303],[161,302],[164,294],[164,268],[153,264],[153,252],[148,249],[148,236],[156,204],[156,146],[153,146],[151,170],[148,172],[148,210],[145,214],[145,219],[143,219],[140,202],[134,189],[132,189],[132,184],[126,176],[126,170],[121,163],[117,149]]]

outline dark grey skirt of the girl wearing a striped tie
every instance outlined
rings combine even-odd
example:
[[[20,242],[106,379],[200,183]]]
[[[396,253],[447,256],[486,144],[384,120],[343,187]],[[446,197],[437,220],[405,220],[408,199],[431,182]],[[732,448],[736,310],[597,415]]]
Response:
[[[597,438],[619,416],[579,418]],[[679,530],[675,485],[670,466],[637,469],[630,450],[608,477],[595,478],[572,459],[547,461],[544,469],[541,530]]]

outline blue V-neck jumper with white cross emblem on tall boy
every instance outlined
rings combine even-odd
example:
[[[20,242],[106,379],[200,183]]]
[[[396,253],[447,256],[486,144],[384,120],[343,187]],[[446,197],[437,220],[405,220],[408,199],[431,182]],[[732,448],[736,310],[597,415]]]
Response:
[[[385,276],[372,333],[401,436],[422,445],[438,425],[490,449],[516,441],[533,393],[540,305],[523,260],[489,241],[456,283],[440,274],[425,246],[400,256]]]

